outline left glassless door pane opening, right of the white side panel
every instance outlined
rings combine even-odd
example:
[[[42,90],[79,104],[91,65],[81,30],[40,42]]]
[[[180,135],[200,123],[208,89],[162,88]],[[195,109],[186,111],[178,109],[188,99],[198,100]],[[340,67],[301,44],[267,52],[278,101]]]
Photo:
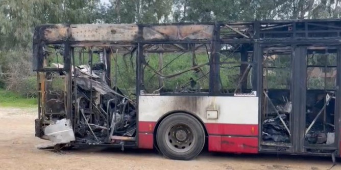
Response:
[[[265,49],[263,55],[262,144],[291,144],[291,54]]]

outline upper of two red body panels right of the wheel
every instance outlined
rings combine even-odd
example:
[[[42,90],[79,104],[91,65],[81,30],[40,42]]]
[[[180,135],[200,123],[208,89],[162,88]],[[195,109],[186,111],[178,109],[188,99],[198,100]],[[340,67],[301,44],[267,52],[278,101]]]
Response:
[[[258,125],[206,123],[205,126],[208,135],[258,137]]]

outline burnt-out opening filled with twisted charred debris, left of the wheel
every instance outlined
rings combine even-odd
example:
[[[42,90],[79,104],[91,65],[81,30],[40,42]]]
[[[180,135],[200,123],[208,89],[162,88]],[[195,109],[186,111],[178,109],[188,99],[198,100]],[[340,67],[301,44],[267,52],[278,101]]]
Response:
[[[72,72],[76,69],[72,77],[76,86],[72,88],[76,95],[72,114],[76,141],[84,144],[109,144],[119,143],[117,136],[134,138],[136,102],[118,88],[120,84],[125,87],[129,81],[121,75],[129,74],[125,69],[130,69],[125,67],[124,54],[114,47],[74,48],[73,53],[79,54],[78,59],[73,57],[75,60],[72,60],[72,66],[78,65],[72,67]],[[87,64],[80,65],[85,61]],[[108,74],[108,69],[111,74]],[[108,80],[114,82],[112,86]],[[135,84],[136,81],[130,83]]]

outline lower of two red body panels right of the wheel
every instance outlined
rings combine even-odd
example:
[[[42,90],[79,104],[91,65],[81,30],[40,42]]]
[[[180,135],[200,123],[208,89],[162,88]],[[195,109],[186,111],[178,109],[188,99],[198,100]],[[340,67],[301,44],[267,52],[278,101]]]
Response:
[[[257,137],[208,136],[208,150],[227,153],[258,153]]]

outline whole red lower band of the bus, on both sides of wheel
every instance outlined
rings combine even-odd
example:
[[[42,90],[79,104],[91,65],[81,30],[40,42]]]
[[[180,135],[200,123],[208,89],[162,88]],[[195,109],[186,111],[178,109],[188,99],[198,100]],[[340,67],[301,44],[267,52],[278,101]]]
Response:
[[[138,123],[138,148],[153,149],[156,122]],[[258,125],[207,123],[205,126],[210,151],[258,153]]]

